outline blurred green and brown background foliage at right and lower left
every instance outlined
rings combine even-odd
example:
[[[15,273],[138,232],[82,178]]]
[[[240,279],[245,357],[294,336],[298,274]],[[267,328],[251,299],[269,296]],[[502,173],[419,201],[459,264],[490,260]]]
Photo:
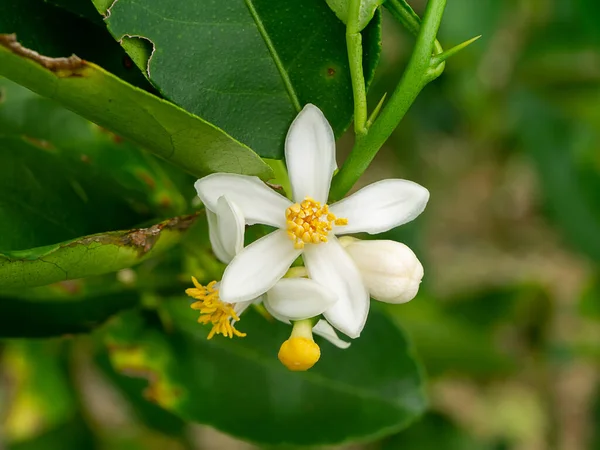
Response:
[[[383,25],[371,105],[393,89],[413,43],[387,13]],[[402,177],[431,191],[417,221],[388,233],[425,267],[418,297],[389,311],[427,371],[430,412],[351,448],[600,449],[600,3],[449,0],[442,45],[479,34],[361,180]],[[342,137],[340,158],[351,143]],[[54,344],[3,349],[0,448],[254,448],[138,408],[85,338]],[[40,389],[48,395],[32,394]],[[38,416],[40,402],[51,414]]]

